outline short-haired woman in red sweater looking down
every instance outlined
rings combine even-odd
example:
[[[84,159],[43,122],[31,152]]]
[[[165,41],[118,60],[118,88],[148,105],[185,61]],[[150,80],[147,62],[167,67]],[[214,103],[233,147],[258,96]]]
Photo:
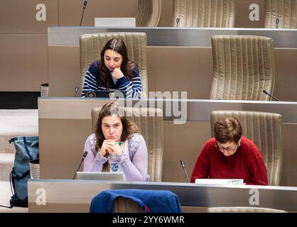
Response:
[[[257,146],[242,136],[237,118],[215,123],[215,138],[198,155],[191,182],[197,178],[244,179],[244,184],[267,185],[267,170]]]

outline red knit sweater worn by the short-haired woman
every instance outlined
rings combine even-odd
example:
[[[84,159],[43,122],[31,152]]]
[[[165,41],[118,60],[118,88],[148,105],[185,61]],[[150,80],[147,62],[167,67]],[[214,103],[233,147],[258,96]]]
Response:
[[[252,140],[242,137],[234,155],[225,156],[211,138],[198,155],[190,181],[196,178],[244,179],[247,184],[267,185],[267,170]]]

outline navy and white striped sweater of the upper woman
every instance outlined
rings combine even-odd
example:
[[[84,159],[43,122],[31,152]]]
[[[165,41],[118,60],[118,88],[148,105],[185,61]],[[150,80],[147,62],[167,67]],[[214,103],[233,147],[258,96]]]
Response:
[[[82,97],[89,91],[106,90],[106,87],[102,87],[102,78],[99,75],[99,64],[100,62],[92,62],[85,74],[84,87],[82,88]],[[132,81],[126,79],[126,77],[121,77],[117,79],[114,84],[112,80],[112,75],[110,75],[110,84],[112,84],[112,89],[119,89],[124,93],[126,99],[141,99],[141,79],[139,77],[139,68],[134,67],[132,71]]]

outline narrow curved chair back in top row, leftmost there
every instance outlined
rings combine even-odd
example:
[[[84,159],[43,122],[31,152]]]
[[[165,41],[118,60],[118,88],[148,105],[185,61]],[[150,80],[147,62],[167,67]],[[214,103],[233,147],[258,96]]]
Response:
[[[136,26],[156,27],[161,18],[162,0],[139,0]]]

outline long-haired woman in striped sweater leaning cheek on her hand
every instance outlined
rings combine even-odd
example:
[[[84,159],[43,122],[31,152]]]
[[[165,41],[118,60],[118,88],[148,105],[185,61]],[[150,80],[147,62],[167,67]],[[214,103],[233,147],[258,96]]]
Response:
[[[126,45],[120,38],[108,40],[101,60],[92,62],[85,74],[82,97],[89,91],[116,89],[125,98],[141,98],[139,67],[128,59]]]

